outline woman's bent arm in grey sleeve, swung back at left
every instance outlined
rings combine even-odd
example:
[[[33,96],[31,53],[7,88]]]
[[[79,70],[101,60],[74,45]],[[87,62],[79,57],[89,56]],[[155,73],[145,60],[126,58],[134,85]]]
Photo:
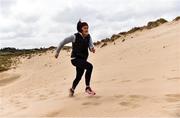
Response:
[[[66,45],[66,44],[68,44],[68,43],[70,43],[70,42],[74,42],[74,41],[75,41],[75,35],[68,36],[68,37],[66,37],[64,40],[62,40],[62,41],[59,43],[59,45],[58,45],[58,47],[57,47],[57,49],[56,49],[55,58],[58,58],[59,53],[60,53],[60,51],[61,51],[61,49],[63,48],[64,45]]]

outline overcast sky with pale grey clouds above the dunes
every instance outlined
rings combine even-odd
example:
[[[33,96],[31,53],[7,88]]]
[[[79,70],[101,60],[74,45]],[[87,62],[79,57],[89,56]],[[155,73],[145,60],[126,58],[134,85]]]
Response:
[[[0,48],[57,46],[88,22],[93,41],[163,17],[180,15],[180,0],[0,0]]]

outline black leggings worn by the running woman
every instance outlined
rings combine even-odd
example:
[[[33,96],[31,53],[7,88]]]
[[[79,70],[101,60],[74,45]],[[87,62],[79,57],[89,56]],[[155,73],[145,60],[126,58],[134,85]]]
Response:
[[[76,67],[76,78],[73,81],[72,88],[75,89],[79,81],[82,78],[84,70],[85,73],[85,83],[86,86],[90,85],[91,73],[93,70],[93,65],[89,63],[86,59],[75,58],[71,60],[71,63]]]

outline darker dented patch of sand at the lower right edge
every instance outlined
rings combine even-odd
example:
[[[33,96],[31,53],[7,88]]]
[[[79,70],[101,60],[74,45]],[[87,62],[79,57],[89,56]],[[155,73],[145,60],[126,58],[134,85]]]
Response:
[[[168,102],[179,102],[180,101],[180,94],[167,94],[166,101]]]

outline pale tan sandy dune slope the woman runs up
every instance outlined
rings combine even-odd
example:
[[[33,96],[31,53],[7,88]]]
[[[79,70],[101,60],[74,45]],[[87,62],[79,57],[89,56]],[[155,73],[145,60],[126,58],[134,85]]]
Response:
[[[0,73],[0,116],[156,116],[180,117],[180,22],[133,33],[90,53],[94,97],[75,97],[68,89],[75,77],[70,52],[59,59],[50,51],[22,59]]]

